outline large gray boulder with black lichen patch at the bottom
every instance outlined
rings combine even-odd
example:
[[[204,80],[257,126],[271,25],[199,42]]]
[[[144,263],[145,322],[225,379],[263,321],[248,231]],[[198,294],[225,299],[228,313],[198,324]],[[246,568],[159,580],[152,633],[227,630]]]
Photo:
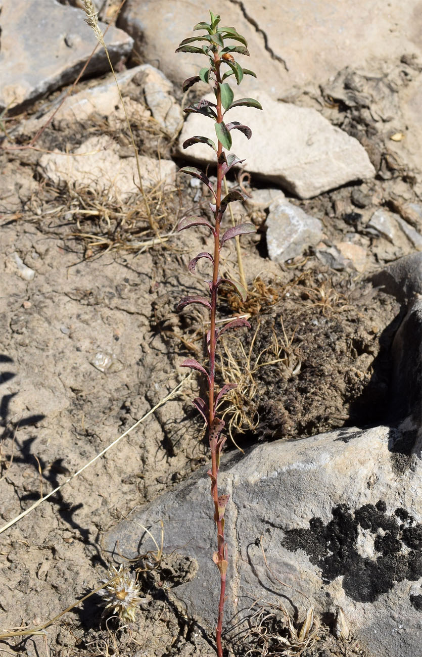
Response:
[[[343,428],[225,455],[221,493],[229,547],[227,629],[254,600],[300,610],[306,594],[317,614],[344,610],[352,633],[377,657],[419,654],[422,631],[421,443],[401,453],[398,431]],[[419,452],[417,453],[417,451]],[[157,533],[164,551],[197,559],[197,576],[172,589],[189,614],[213,627],[218,572],[210,482],[205,470],[135,510],[104,537],[116,556],[154,550],[141,525]],[[156,529],[158,528],[158,529]],[[262,556],[260,539],[272,572]],[[292,611],[292,610],[291,610]],[[231,625],[233,623],[233,625]]]

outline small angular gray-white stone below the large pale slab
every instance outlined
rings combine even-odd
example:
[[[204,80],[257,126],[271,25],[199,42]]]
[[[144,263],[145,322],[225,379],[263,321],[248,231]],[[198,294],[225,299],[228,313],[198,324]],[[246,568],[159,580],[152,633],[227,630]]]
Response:
[[[323,235],[319,219],[285,199],[271,203],[266,226],[268,255],[275,262],[300,256],[309,246],[316,246]]]

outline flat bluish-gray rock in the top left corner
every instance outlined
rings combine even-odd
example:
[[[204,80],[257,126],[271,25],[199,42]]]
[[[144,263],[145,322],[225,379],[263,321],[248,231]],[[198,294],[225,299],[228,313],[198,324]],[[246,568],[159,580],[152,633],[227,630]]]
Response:
[[[85,23],[85,12],[56,0],[16,0],[1,12],[0,109],[17,109],[78,76],[91,55],[95,35]],[[102,32],[106,25],[99,24]],[[133,39],[110,27],[105,42],[113,64],[126,60]],[[98,47],[86,74],[109,69],[105,51]]]

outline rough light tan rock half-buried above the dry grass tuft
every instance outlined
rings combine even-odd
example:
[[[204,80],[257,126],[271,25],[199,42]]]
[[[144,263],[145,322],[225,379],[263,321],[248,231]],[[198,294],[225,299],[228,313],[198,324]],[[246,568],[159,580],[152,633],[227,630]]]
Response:
[[[45,153],[39,160],[43,175],[55,183],[93,187],[120,200],[137,193],[135,156],[120,158],[118,145],[109,137],[90,137],[73,153]],[[139,156],[145,189],[174,184],[176,164]],[[133,182],[133,179],[135,182]]]

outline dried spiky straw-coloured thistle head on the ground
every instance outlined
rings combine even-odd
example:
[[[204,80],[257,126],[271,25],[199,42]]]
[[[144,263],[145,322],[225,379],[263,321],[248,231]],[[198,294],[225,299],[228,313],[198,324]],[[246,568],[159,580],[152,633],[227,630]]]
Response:
[[[105,612],[110,609],[123,622],[133,622],[139,604],[147,600],[139,595],[141,590],[136,583],[135,574],[129,572],[123,564],[120,564],[118,570],[111,566],[108,569],[107,578],[103,581],[108,582],[106,587],[99,591],[106,605]]]

